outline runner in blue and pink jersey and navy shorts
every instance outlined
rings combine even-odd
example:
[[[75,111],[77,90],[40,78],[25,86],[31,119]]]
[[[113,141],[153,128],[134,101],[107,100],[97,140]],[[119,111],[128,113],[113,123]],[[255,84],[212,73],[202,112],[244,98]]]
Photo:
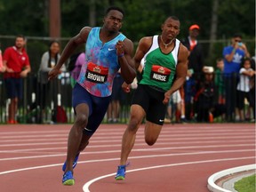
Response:
[[[58,64],[49,73],[50,80],[58,76],[71,53],[80,44],[85,44],[86,62],[72,93],[76,120],[68,135],[67,159],[62,166],[63,185],[75,184],[73,169],[80,152],[88,145],[107,112],[113,79],[119,68],[127,84],[132,84],[136,76],[132,62],[132,41],[119,32],[123,18],[122,9],[108,8],[103,26],[82,28],[78,35],[69,40]]]

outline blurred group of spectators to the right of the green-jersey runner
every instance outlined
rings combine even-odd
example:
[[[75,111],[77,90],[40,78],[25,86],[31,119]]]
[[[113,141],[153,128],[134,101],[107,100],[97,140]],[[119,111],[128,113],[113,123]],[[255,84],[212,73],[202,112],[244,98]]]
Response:
[[[192,25],[183,41],[190,52],[187,79],[172,95],[165,123],[255,122],[255,56],[235,34],[216,63],[206,64],[199,32]]]

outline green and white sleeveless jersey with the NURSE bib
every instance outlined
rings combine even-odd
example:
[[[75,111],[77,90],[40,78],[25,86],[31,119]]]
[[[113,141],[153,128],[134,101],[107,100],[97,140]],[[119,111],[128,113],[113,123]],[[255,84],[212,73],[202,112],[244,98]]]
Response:
[[[140,84],[169,90],[176,72],[179,47],[180,41],[176,39],[172,52],[165,54],[159,48],[158,36],[153,36],[153,43],[144,56],[145,66]]]

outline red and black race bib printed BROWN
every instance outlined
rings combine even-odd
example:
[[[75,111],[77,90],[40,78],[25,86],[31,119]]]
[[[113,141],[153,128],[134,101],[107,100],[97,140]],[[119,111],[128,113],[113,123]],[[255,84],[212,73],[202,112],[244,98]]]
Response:
[[[87,81],[91,81],[96,84],[104,84],[108,79],[108,68],[89,62],[85,77]]]

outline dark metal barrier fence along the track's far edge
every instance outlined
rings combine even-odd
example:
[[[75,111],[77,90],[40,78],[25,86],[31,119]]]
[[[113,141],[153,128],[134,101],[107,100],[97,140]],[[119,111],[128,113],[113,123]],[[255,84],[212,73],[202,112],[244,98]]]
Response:
[[[19,108],[16,115],[16,119],[20,124],[56,124],[56,123],[68,123],[71,124],[74,122],[75,114],[74,109],[72,108],[71,98],[72,98],[72,87],[70,84],[70,73],[65,72],[62,73],[59,78],[54,79],[48,84],[39,84],[37,74],[29,74],[27,78],[23,79],[23,98],[19,101]],[[236,89],[236,86],[234,86]],[[119,115],[119,123],[126,124],[129,116],[130,116],[130,103],[132,100],[131,93],[125,94],[125,99],[121,101],[121,109]],[[253,93],[253,92],[252,92]],[[214,93],[215,94],[215,93]],[[202,106],[207,102],[203,100],[203,104],[198,103],[196,106],[195,97],[193,96],[193,100],[191,102],[184,102],[182,105],[188,107],[192,106],[193,115],[187,119],[189,122],[198,122],[196,120],[196,116],[198,114],[202,114]],[[208,97],[208,96],[206,96]],[[223,101],[218,101],[218,94],[214,95],[214,103],[223,104]],[[236,100],[236,92],[233,94],[234,100]],[[222,103],[220,103],[222,102]],[[253,119],[252,108],[249,106],[248,100],[241,100],[244,102],[243,113],[244,116],[250,119]],[[10,103],[10,99],[7,99],[5,92],[5,84],[3,79],[3,74],[0,75],[0,124],[5,124],[8,120],[8,105]],[[255,103],[255,89],[254,89],[254,103]],[[169,118],[172,120],[172,123],[180,123],[180,112],[177,108],[175,102],[170,103],[170,107],[172,107],[172,113],[169,114]],[[195,109],[196,107],[196,109]],[[61,116],[67,116],[66,120],[56,119],[56,116],[60,111],[57,111],[57,108],[62,108],[63,114]],[[221,108],[217,108],[219,116],[214,118],[214,122],[226,122],[225,120],[225,112],[221,111],[225,108],[222,105]],[[186,109],[187,110],[187,109]],[[178,113],[179,112],[179,113]],[[204,112],[204,111],[203,111]],[[59,114],[60,115],[60,114]],[[204,115],[204,113],[203,113]],[[167,116],[167,113],[166,113]],[[208,114],[207,114],[208,116]],[[214,116],[215,117],[215,116]],[[231,122],[236,122],[236,115],[232,116],[230,119]],[[248,119],[249,120],[249,119]],[[201,122],[201,121],[199,121]],[[205,122],[205,121],[202,121]],[[107,114],[103,120],[103,123],[108,123]]]

